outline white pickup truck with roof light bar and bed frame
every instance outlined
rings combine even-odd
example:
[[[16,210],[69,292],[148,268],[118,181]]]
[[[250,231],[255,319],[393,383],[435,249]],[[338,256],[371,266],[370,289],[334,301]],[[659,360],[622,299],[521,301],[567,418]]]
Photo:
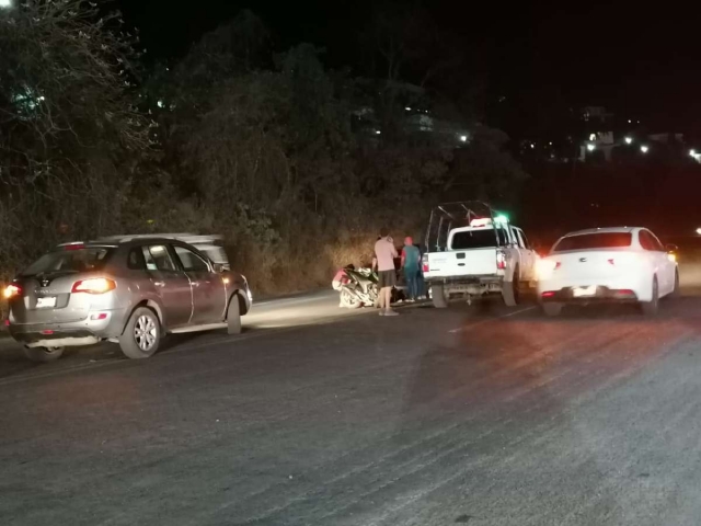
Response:
[[[536,279],[538,254],[524,231],[489,205],[478,205],[452,203],[432,214],[422,265],[437,308],[446,308],[451,295],[496,293],[513,307]]]

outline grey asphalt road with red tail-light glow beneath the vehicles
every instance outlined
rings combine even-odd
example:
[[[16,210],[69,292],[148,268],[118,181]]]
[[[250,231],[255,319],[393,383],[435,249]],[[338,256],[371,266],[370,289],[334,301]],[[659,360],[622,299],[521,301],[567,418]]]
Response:
[[[701,268],[647,319],[320,293],[245,332],[0,346],[1,525],[698,525]]]

